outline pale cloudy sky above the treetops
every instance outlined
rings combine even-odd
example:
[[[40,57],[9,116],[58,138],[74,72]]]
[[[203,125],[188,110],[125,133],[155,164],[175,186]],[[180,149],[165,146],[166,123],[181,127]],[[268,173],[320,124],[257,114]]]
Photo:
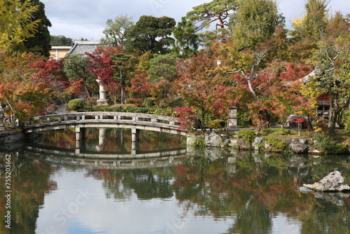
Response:
[[[41,0],[45,14],[52,23],[51,35],[63,35],[71,39],[99,40],[104,36],[106,20],[118,15],[132,16],[134,22],[141,15],[169,16],[179,22],[181,17],[197,6],[211,0]],[[300,18],[305,0],[277,0],[279,11],[286,17],[286,26]],[[330,0],[331,12],[350,13],[349,0]]]

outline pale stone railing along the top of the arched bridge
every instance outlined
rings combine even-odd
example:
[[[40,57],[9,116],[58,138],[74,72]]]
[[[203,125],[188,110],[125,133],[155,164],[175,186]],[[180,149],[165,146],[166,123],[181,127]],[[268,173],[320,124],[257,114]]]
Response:
[[[79,121],[116,121],[125,123],[153,123],[154,125],[165,125],[171,128],[179,128],[177,118],[168,116],[158,116],[148,113],[128,113],[128,112],[77,112],[58,113],[47,116],[35,116],[25,123],[25,127],[34,125],[60,124]]]

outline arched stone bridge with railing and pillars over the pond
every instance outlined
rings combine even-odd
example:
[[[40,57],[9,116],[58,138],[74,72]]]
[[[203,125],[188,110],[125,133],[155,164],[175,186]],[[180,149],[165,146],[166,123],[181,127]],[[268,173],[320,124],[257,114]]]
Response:
[[[28,133],[75,128],[76,140],[80,140],[80,128],[131,128],[132,141],[136,142],[139,130],[186,135],[186,130],[180,130],[179,125],[177,118],[146,113],[78,112],[32,117],[24,130]]]

